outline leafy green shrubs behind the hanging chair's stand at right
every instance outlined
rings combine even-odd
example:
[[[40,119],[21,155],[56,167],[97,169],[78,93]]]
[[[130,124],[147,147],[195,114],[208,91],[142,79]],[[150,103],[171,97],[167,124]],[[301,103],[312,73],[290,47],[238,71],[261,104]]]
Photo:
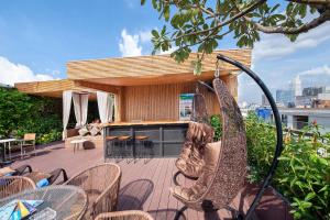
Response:
[[[245,122],[249,179],[260,183],[272,163],[276,134],[274,127],[255,114]],[[321,135],[319,129],[312,123],[300,135],[286,136],[273,178],[273,186],[289,199],[295,219],[330,219],[330,134]]]

